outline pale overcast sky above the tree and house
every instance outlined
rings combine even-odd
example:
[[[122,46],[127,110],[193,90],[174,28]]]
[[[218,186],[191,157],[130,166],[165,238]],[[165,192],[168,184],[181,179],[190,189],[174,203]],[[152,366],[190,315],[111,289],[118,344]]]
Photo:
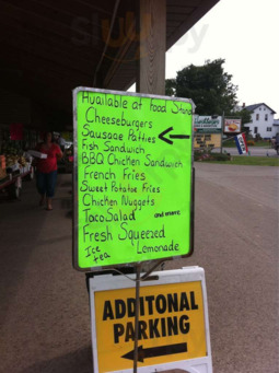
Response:
[[[166,78],[224,58],[240,104],[265,103],[279,117],[279,0],[220,0],[166,54]],[[190,97],[189,97],[190,98]]]

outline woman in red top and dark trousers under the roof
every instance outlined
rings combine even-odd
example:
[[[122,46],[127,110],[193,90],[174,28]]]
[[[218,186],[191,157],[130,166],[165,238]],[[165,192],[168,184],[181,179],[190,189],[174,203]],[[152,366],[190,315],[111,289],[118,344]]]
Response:
[[[62,158],[61,149],[53,142],[53,133],[47,132],[44,142],[36,148],[40,153],[47,154],[46,159],[37,161],[37,190],[40,194],[39,205],[43,206],[46,199],[46,210],[53,210],[51,200],[55,196],[55,186],[57,179],[57,161]]]

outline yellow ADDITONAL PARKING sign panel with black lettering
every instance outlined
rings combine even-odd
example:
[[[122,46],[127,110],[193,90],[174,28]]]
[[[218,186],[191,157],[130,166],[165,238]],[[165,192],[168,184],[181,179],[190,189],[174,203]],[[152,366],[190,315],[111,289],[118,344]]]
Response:
[[[185,272],[185,269],[182,271]],[[148,281],[141,285],[139,372],[144,366],[208,358],[207,304],[204,302],[202,279],[199,276],[198,280],[193,278],[193,281],[170,282],[173,281],[170,276],[174,272],[179,271],[158,272],[161,277],[159,283]],[[183,272],[178,275],[182,279]],[[128,281],[128,287],[124,287],[123,281]],[[91,280],[94,366],[100,373],[128,372],[132,369],[135,349],[133,283],[118,276],[107,279],[102,276],[102,281],[95,282],[98,282],[97,278]],[[98,285],[103,288],[104,283],[111,283],[112,289],[98,290]]]

